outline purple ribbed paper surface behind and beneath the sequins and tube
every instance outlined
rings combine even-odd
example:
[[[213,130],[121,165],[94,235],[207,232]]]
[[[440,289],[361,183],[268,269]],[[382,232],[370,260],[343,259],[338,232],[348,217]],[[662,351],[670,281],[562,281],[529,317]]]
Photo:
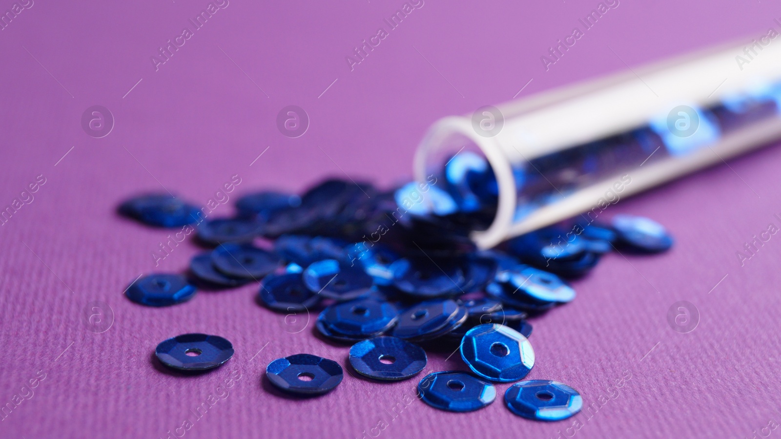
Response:
[[[506,384],[477,412],[407,406],[417,378],[348,376],[322,398],[284,398],[263,384],[270,360],[309,352],[346,366],[348,348],[323,344],[311,325],[291,334],[284,316],[255,304],[256,285],[166,309],[124,298],[139,274],[182,270],[198,252],[188,240],[155,268],[152,252],[168,232],[117,217],[127,195],[166,187],[205,205],[234,174],[242,182],[231,202],[344,173],[396,183],[411,176],[415,145],[441,116],[505,102],[532,79],[519,98],[624,62],[759,37],[781,16],[778,2],[622,0],[546,72],[540,56],[581,27],[597,0],[426,0],[351,71],[344,57],[387,29],[383,19],[404,2],[312,3],[230,0],[159,71],[150,57],[192,28],[207,0],[35,0],[0,30],[0,205],[36,176],[46,179],[0,226],[0,405],[45,373],[30,399],[2,417],[0,437],[166,437],[210,394],[224,396],[218,386],[231,373],[241,379],[185,437],[547,438],[572,435],[565,429],[575,419],[583,423],[577,437],[751,437],[781,423],[781,237],[745,266],[735,255],[769,223],[781,224],[773,217],[781,213],[778,146],[608,209],[657,219],[677,242],[664,255],[608,255],[576,282],[575,302],[533,322],[529,378],[576,387],[587,405],[600,405],[594,416],[521,419],[503,407]],[[13,4],[0,0],[0,11]],[[107,137],[82,130],[91,105],[116,119]],[[277,130],[286,105],[308,112],[302,137]],[[83,315],[95,300],[116,315],[102,334],[88,331]],[[678,300],[701,313],[689,334],[666,319]],[[186,332],[222,335],[236,355],[198,377],[162,370],[155,345]],[[459,355],[445,357],[432,353],[428,369],[465,368]],[[624,371],[631,379],[615,390]],[[601,395],[615,399],[603,404]],[[387,411],[397,403],[405,409],[393,419]],[[380,420],[387,427],[370,430]]]

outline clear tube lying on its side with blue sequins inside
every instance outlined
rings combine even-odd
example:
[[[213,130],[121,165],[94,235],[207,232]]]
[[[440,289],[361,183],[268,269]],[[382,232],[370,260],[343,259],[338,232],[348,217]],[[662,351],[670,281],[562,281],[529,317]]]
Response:
[[[480,248],[590,212],[781,137],[781,45],[727,45],[434,123],[415,177],[468,152],[495,177]],[[751,52],[750,52],[751,53]],[[592,218],[593,219],[593,218]]]

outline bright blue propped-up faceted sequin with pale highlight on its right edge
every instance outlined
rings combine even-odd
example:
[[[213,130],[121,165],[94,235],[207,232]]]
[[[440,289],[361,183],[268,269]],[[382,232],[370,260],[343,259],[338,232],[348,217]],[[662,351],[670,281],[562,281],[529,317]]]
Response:
[[[461,358],[487,380],[521,380],[534,366],[534,349],[518,331],[499,324],[478,325],[466,332]]]

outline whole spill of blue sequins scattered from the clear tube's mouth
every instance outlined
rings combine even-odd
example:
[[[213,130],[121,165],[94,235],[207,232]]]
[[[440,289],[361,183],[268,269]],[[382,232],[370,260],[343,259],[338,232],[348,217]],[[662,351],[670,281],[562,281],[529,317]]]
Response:
[[[210,249],[187,273],[140,277],[127,298],[175,305],[198,289],[259,283],[258,302],[274,312],[319,312],[316,336],[351,345],[349,367],[377,383],[414,377],[426,367],[426,351],[460,351],[464,370],[430,373],[418,384],[419,398],[437,409],[480,409],[494,402],[494,383],[515,382],[505,405],[516,415],[573,416],[583,399],[572,387],[524,380],[537,361],[529,319],[571,302],[576,292],[567,280],[587,274],[605,253],[663,252],[672,238],[647,218],[583,216],[480,251],[469,231],[490,222],[495,180],[490,167],[451,162],[438,182],[393,191],[331,179],[300,196],[244,195],[230,218],[205,219],[171,195],[132,198],[119,206],[123,216],[155,227],[191,225]],[[205,370],[233,352],[222,337],[181,334],[162,341],[156,355],[174,369]],[[337,387],[343,369],[291,352],[270,362],[266,377],[281,391],[312,396]]]

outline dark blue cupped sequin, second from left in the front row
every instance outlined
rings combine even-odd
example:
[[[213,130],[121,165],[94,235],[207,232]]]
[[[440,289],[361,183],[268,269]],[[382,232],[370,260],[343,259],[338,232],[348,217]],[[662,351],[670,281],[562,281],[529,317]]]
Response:
[[[296,354],[276,359],[266,366],[271,384],[294,394],[323,394],[341,383],[339,363],[317,355]]]

